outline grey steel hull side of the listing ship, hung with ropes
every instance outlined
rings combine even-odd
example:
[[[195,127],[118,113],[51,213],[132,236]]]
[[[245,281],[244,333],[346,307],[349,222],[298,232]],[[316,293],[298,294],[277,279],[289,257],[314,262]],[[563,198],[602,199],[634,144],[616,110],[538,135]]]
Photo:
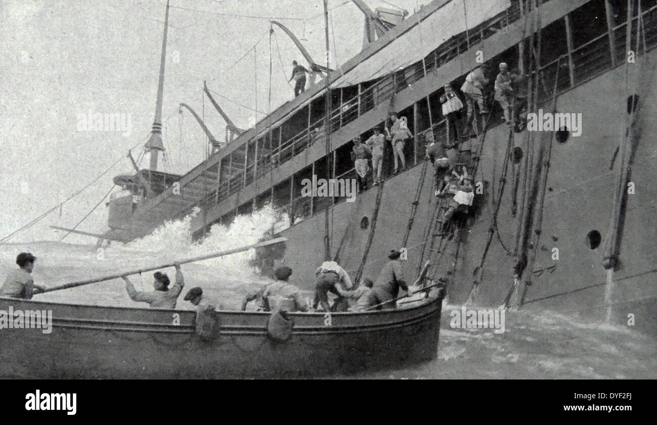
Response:
[[[649,101],[657,94],[653,66],[657,53],[648,53],[646,60],[643,76],[646,83],[640,97],[648,101],[641,104],[641,114],[652,117],[657,114],[657,104]],[[612,169],[610,160],[620,145],[624,129],[624,99],[627,95],[624,85],[618,83],[624,81],[624,72],[621,66],[558,96],[557,110],[581,113],[583,128],[579,137],[571,135],[565,143],[553,142],[541,238],[532,270],[532,285],[525,294],[527,307],[605,319],[608,277],[602,259],[606,239],[610,236],[614,193],[619,184],[619,160]],[[622,101],[612,102],[610,99]],[[551,106],[545,105],[543,108],[547,110]],[[654,202],[657,187],[651,183],[652,175],[657,172],[657,145],[654,139],[657,123],[644,120],[642,125],[631,175],[635,194],[628,198],[620,246],[621,263],[614,273],[612,323],[627,325],[628,315],[633,315],[637,320],[630,325],[633,326],[631,329],[657,336],[657,250],[654,249],[654,240],[657,240]],[[541,137],[551,137],[551,132],[539,132],[537,140]],[[474,220],[464,226],[451,242],[443,241],[444,250],[437,256],[427,252],[422,256],[424,244],[430,244],[430,238],[427,239],[425,233],[435,206],[432,168],[426,168],[417,213],[405,247],[400,244],[407,232],[422,166],[417,164],[409,171],[388,179],[384,183],[373,243],[363,276],[376,279],[378,270],[387,261],[388,252],[392,248],[407,248],[407,261],[403,261],[407,280],[414,279],[420,262],[428,259],[430,254],[438,267],[436,277],[449,278],[447,293],[450,300],[466,302],[491,229],[495,212],[493,197],[497,198],[499,191],[508,139],[509,130],[505,125],[487,131],[475,178],[486,188],[478,200],[480,207]],[[526,139],[526,131],[516,133],[514,146],[526,151]],[[518,204],[522,200],[522,190],[521,181],[516,192]],[[517,216],[511,213],[513,192],[512,168],[509,167],[497,223],[493,225],[497,235],[493,236],[487,252],[476,296],[474,300],[470,299],[475,305],[497,307],[503,304],[513,283],[516,257],[512,254],[518,228]],[[376,187],[359,194],[355,202],[341,202],[330,209],[332,255],[336,254],[342,242],[340,263],[350,272],[358,269],[363,257],[370,228],[362,229],[361,221],[363,217],[372,219],[375,200]],[[597,248],[591,249],[585,240],[587,234],[594,230],[599,231],[602,240]],[[323,261],[324,233],[324,212],[280,233],[289,239],[284,263],[292,267],[295,274],[313,275],[315,267]],[[456,263],[455,270],[448,275],[453,263]]]

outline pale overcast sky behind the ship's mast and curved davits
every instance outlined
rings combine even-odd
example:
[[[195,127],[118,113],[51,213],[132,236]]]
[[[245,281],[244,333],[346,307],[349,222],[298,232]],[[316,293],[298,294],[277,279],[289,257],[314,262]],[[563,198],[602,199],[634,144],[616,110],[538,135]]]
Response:
[[[412,14],[430,1],[365,3]],[[73,227],[108,194],[112,177],[133,173],[127,152],[141,157],[154,118],[165,8],[166,0],[0,0],[0,238],[95,180],[5,242],[58,240],[64,233],[49,225]],[[328,8],[332,65],[341,64],[362,49],[363,14],[350,0],[329,0]],[[286,82],[291,62],[306,62],[278,27],[270,49],[272,18],[323,64],[321,0],[171,0],[160,171],[184,174],[206,152],[202,129],[187,110],[179,114],[180,102],[224,139],[225,122],[203,99],[203,81],[240,128],[294,97]],[[125,131],[95,131],[82,118],[89,113],[121,114]],[[79,230],[108,229],[108,199]],[[69,235],[65,242],[95,239]]]

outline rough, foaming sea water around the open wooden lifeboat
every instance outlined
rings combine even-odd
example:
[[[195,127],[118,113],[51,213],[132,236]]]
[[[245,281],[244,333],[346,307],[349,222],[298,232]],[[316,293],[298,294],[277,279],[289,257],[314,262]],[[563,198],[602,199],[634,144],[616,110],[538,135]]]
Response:
[[[281,228],[281,217],[265,208],[240,216],[229,227],[214,225],[200,243],[191,242],[191,217],[171,221],[151,235],[129,244],[95,245],[30,242],[0,246],[0,277],[16,267],[19,252],[37,257],[34,280],[55,286],[66,282],[113,275],[121,271],[170,263],[258,242],[272,227]],[[217,259],[182,265],[185,290],[201,286],[211,303],[237,309],[242,296],[265,283],[249,265],[254,253],[241,252]],[[173,281],[173,267],[164,270]],[[152,290],[152,272],[129,277],[137,290]],[[137,307],[121,279],[39,294],[35,299]],[[182,296],[179,309],[193,309]],[[365,372],[337,378],[657,378],[657,345],[632,326],[601,324],[576,312],[528,307],[505,315],[505,331],[495,328],[452,327],[451,311],[461,305],[443,305],[440,343],[434,361],[395,370]],[[468,306],[468,309],[472,306]],[[482,307],[489,308],[489,307]]]

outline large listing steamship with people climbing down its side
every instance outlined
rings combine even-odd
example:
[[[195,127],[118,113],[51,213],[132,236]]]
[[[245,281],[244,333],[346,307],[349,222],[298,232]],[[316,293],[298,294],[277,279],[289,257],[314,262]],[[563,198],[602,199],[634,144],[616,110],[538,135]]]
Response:
[[[353,3],[365,15],[363,49],[343,64],[315,63],[273,23],[305,56],[308,87],[252,128],[231,122],[207,88],[227,123],[223,140],[181,106],[212,144],[184,175],[158,171],[167,9],[150,168],[135,164],[114,179],[126,192],[108,204],[104,238],[133,240],[193,214],[202,239],[213,225],[270,205],[283,217],[271,237],[288,241],[266,255],[292,267],[306,289],[325,259],[355,280],[376,279],[388,252],[404,248],[405,275],[430,261],[430,277],[452,302],[576,312],[656,334],[657,1],[437,0],[413,14]],[[501,62],[527,79],[512,125],[492,95]],[[443,86],[465,104],[458,89],[477,67],[489,80],[490,114],[475,114],[475,137],[455,141]],[[302,194],[313,176],[354,178],[353,139],[390,127],[390,112],[413,134],[403,171],[392,172],[386,143],[382,183],[353,202]],[[542,118],[536,125],[556,114],[556,128]],[[476,188],[452,237],[439,231],[450,200],[434,196],[431,142],[449,147]]]

